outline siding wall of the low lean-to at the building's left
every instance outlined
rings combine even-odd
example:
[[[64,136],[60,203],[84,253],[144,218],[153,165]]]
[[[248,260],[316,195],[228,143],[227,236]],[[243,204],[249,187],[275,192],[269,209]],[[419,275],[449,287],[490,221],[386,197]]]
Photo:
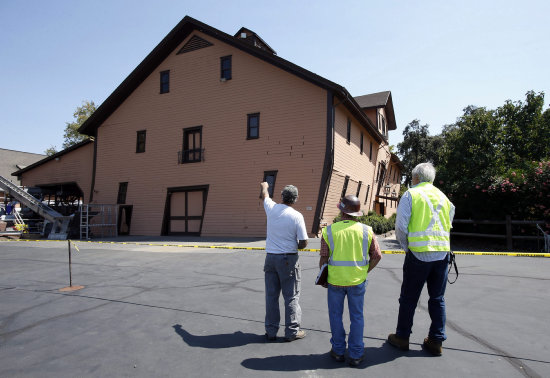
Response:
[[[47,184],[76,182],[89,201],[92,183],[94,144],[88,143],[76,150],[31,169],[21,178],[21,185],[30,187]]]

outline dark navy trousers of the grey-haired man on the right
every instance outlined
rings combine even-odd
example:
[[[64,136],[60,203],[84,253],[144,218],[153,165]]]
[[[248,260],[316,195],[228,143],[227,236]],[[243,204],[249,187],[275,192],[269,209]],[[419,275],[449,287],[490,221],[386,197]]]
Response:
[[[413,317],[424,283],[428,286],[428,312],[432,324],[428,337],[445,341],[445,288],[447,287],[449,255],[440,261],[423,262],[408,252],[403,263],[403,284],[399,297],[399,316],[396,334],[408,339],[412,333]]]

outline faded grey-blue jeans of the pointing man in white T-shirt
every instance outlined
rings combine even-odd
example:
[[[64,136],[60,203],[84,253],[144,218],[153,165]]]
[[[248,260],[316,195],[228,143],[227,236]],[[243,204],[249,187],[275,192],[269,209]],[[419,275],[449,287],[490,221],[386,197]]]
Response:
[[[276,336],[281,315],[279,295],[283,293],[285,302],[285,337],[292,337],[300,330],[302,309],[300,299],[301,270],[298,255],[265,256],[265,331],[268,336]]]

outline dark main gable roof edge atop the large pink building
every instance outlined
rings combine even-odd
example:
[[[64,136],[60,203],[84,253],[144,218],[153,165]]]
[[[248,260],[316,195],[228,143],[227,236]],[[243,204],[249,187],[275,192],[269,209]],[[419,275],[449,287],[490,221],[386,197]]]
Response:
[[[243,30],[244,28],[241,28]],[[193,31],[200,31],[210,37],[216,38],[235,48],[247,52],[256,58],[262,59],[276,67],[279,67],[293,75],[309,81],[321,88],[332,91],[354,117],[367,129],[378,141],[384,141],[384,136],[372,124],[370,119],[362,111],[361,107],[349,94],[346,88],[314,74],[294,63],[274,55],[274,53],[258,48],[209,25],[206,25],[192,17],[185,16],[164,39],[143,59],[143,61],[128,75],[128,77],[114,90],[113,93],[97,108],[97,110],[82,124],[78,132],[95,136],[97,128],[130,96],[130,94],[152,73],[154,70],[187,38]],[[245,29],[248,30],[248,29]],[[254,35],[256,35],[254,33]],[[257,35],[256,35],[257,36]],[[259,38],[259,37],[258,37]],[[263,42],[263,41],[262,41]],[[263,42],[265,43],[265,42]],[[273,51],[267,43],[265,45]],[[273,51],[274,52],[274,51]]]

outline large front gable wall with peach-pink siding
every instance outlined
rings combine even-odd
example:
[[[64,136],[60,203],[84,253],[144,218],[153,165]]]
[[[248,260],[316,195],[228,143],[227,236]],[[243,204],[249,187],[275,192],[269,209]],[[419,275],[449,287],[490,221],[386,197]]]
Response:
[[[130,233],[159,235],[170,187],[209,185],[202,235],[264,236],[259,200],[264,171],[300,191],[296,209],[311,230],[326,139],[326,91],[209,36],[214,46],[174,52],[98,129],[94,202],[115,203],[128,181]],[[220,82],[220,57],[232,55],[232,80]],[[170,93],[159,72],[170,70]],[[247,140],[247,114],[260,113],[260,138]],[[178,164],[183,129],[202,125],[205,161]],[[136,131],[147,130],[136,153]],[[311,208],[311,210],[309,210]]]

